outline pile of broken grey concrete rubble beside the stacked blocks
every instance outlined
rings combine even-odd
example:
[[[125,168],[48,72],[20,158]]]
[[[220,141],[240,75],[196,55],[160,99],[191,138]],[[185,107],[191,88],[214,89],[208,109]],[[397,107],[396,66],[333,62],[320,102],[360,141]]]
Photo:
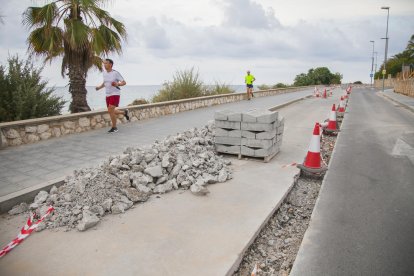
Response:
[[[205,195],[208,184],[232,178],[230,161],[214,150],[213,128],[210,123],[149,146],[127,148],[99,167],[74,171],[62,186],[39,192],[30,206],[22,203],[9,213],[30,209],[42,216],[52,205],[55,211],[38,231],[56,227],[84,231],[106,214],[123,213],[152,194],[190,189],[195,195]]]

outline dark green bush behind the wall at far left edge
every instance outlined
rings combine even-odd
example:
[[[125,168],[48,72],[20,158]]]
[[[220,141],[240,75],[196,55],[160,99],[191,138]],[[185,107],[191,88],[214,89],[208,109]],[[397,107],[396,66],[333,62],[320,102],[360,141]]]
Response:
[[[60,115],[65,101],[52,95],[31,60],[8,58],[8,68],[0,65],[0,122]]]

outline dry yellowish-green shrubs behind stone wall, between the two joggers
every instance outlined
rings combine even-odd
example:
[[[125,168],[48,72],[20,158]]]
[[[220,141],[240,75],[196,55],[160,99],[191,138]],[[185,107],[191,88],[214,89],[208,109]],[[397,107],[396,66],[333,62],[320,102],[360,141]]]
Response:
[[[173,76],[173,81],[164,83],[163,88],[152,97],[151,101],[157,103],[234,92],[226,84],[204,85],[203,81],[200,80],[198,72],[194,72],[194,68],[192,68],[190,70],[177,71]]]

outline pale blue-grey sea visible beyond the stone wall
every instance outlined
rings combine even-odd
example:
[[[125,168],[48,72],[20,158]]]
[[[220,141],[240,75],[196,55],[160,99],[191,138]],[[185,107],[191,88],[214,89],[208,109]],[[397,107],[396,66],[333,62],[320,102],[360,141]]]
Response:
[[[229,85],[230,88],[234,89],[236,92],[244,92],[244,85]],[[121,99],[119,106],[127,106],[131,104],[136,99],[145,99],[148,102],[151,101],[152,97],[155,96],[158,91],[160,91],[162,85],[126,85],[121,89]],[[105,89],[99,91],[95,90],[95,86],[86,86],[88,94],[86,99],[88,101],[89,107],[91,110],[102,110],[106,109],[105,102]],[[68,114],[69,104],[72,100],[71,94],[69,93],[69,86],[64,87],[55,87],[54,95],[62,97],[66,104],[62,109],[62,114]]]

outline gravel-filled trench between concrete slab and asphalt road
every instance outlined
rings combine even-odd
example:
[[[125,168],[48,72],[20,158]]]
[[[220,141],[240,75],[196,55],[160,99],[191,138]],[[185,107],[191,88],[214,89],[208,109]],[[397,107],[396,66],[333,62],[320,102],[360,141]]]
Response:
[[[321,138],[321,155],[329,163],[336,136]],[[319,195],[322,179],[297,175],[292,190],[246,250],[233,276],[289,275]]]

